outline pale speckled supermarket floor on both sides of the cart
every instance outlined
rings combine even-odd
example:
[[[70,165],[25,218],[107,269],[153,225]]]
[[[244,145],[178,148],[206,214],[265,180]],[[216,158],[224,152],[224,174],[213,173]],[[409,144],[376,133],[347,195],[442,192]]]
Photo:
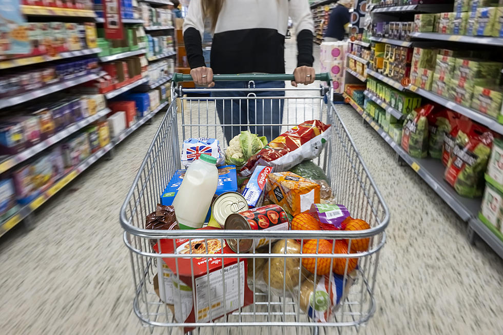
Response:
[[[287,42],[288,69],[295,45]],[[339,111],[392,213],[368,333],[503,333],[503,262],[482,243],[467,243],[465,224],[397,165],[394,151],[351,107]],[[14,229],[0,240],[3,333],[149,333],[131,311],[118,213],[160,118],[43,206],[34,230]]]

